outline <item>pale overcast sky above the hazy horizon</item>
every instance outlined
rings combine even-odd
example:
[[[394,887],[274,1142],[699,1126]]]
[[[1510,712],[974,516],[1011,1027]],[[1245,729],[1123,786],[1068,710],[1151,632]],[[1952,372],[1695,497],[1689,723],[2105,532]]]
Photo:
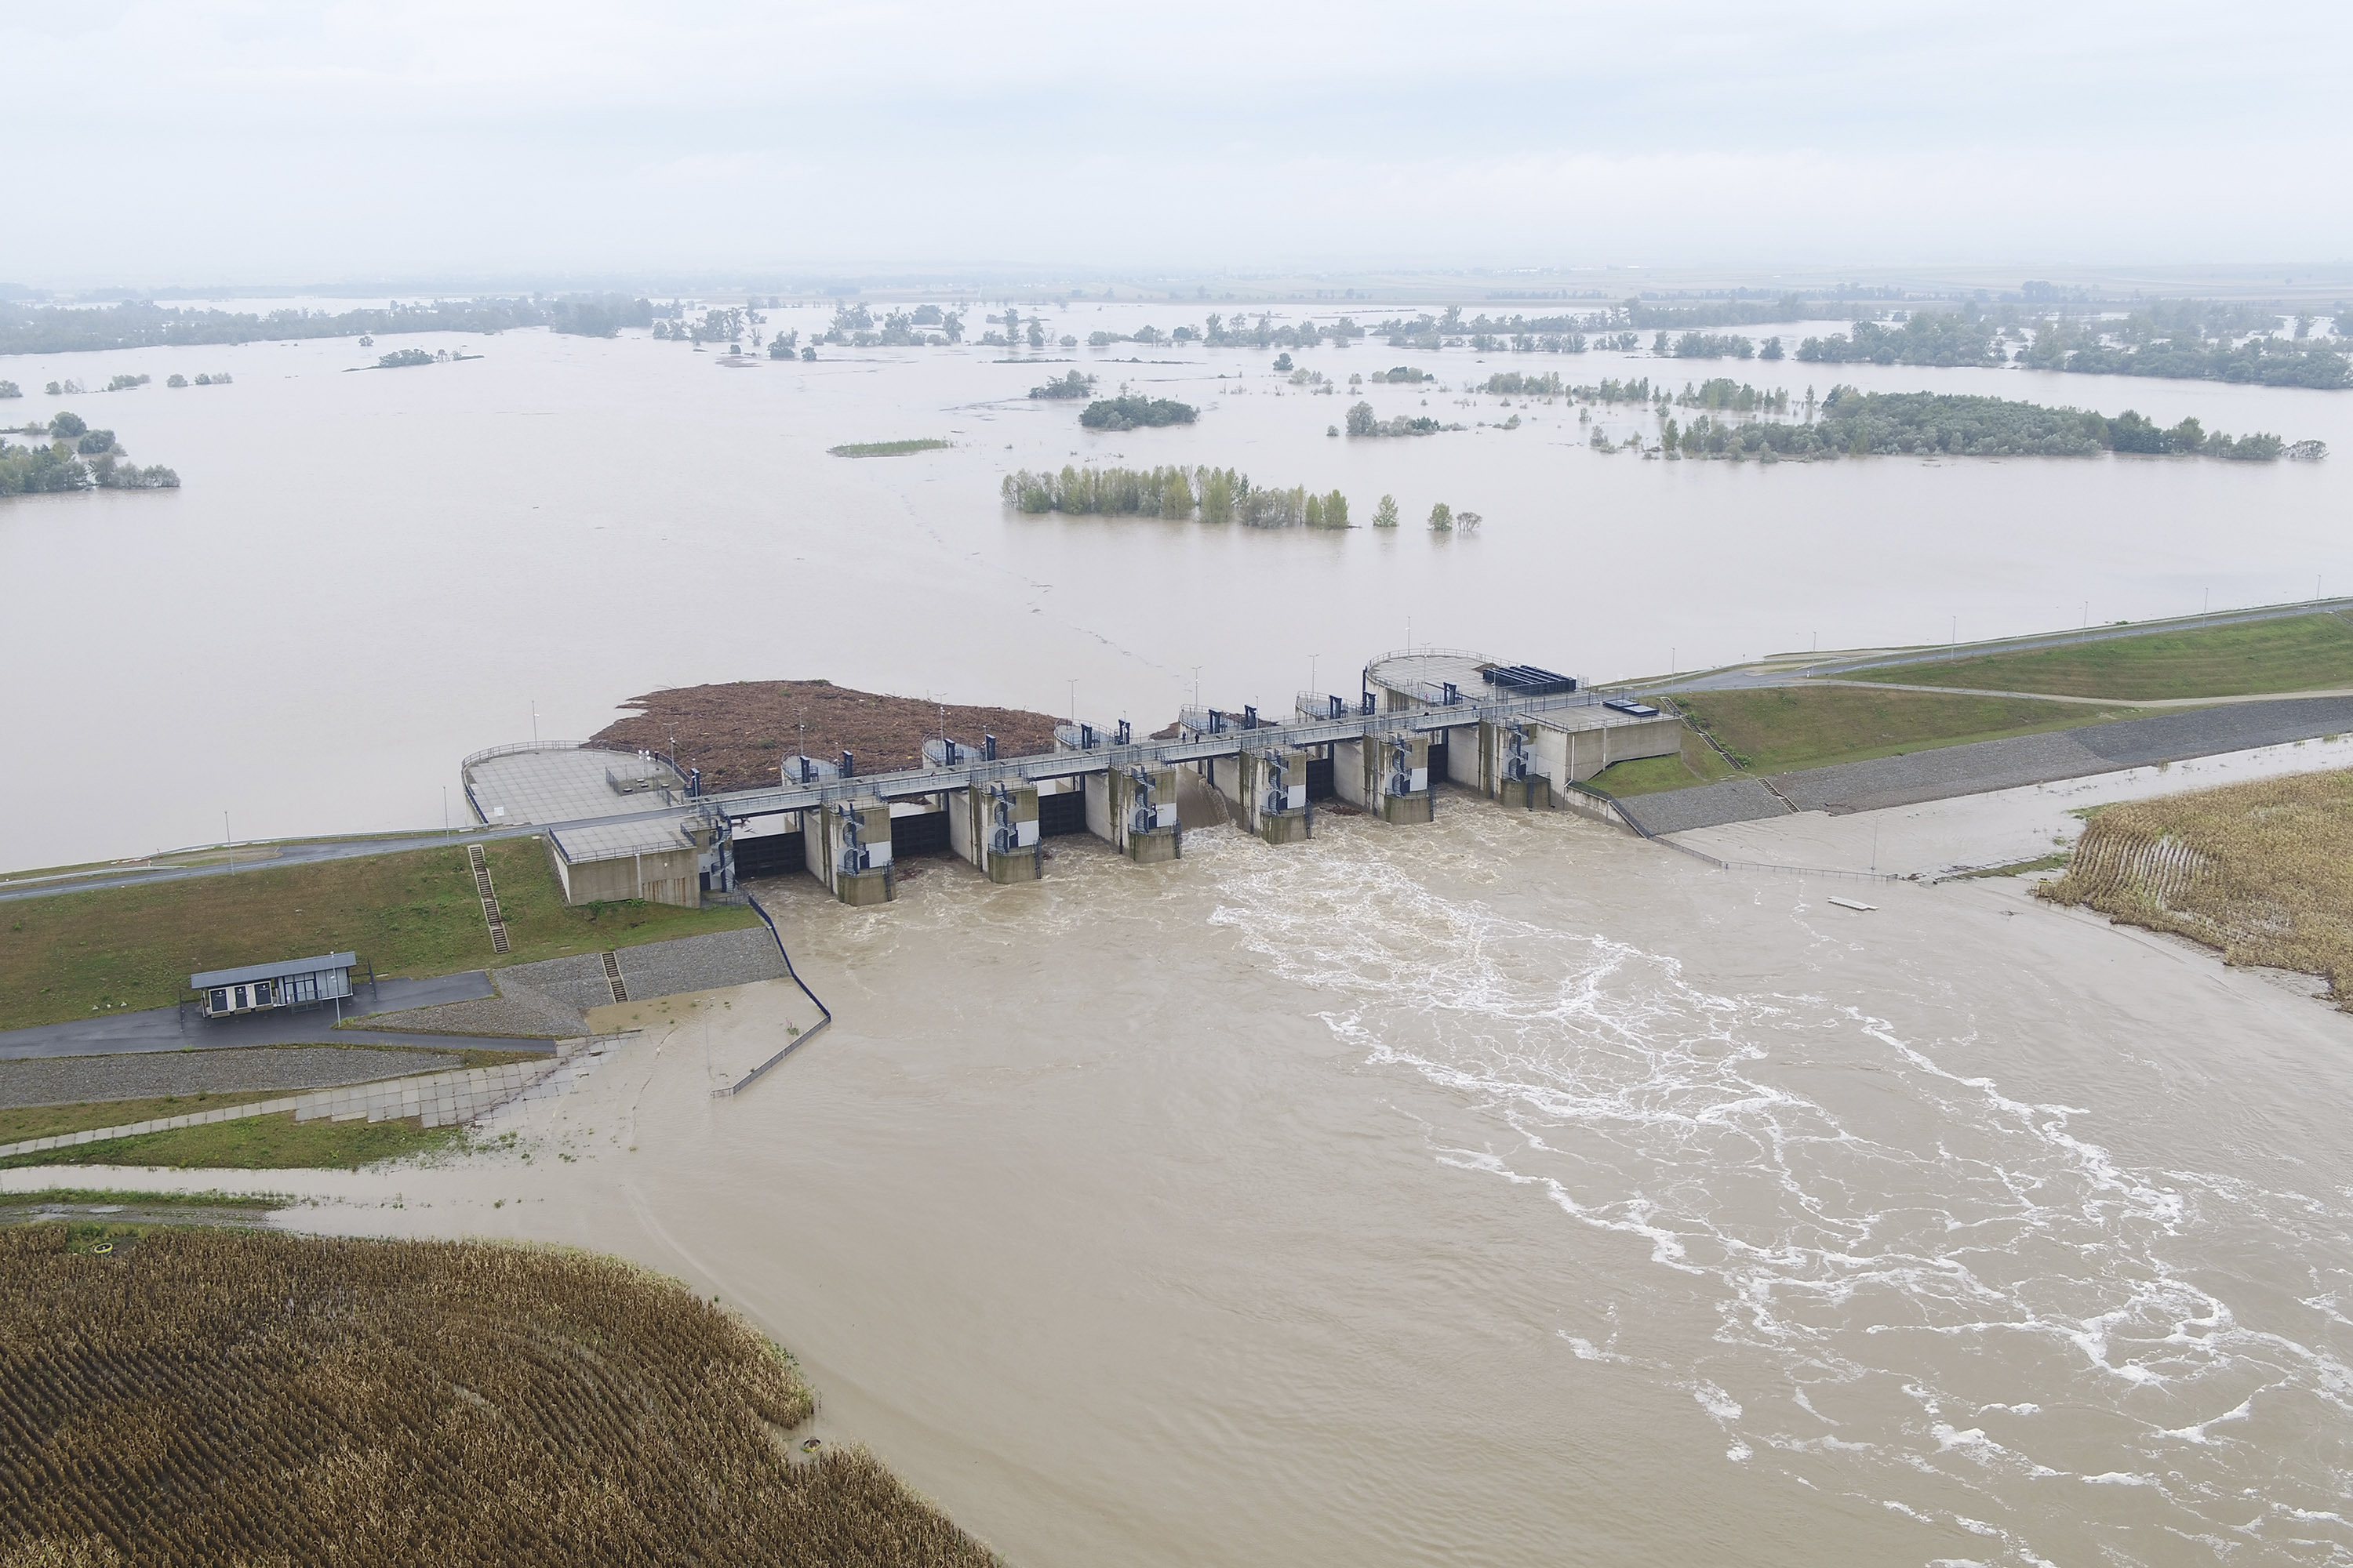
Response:
[[[0,277],[2341,261],[2348,16],[0,0]]]

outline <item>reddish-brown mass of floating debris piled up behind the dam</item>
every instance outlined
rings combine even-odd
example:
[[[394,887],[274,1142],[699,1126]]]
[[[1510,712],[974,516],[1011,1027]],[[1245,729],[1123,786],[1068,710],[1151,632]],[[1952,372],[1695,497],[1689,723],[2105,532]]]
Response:
[[[722,686],[671,686],[621,703],[638,712],[607,724],[598,741],[671,752],[680,766],[704,771],[715,790],[776,783],[776,766],[800,750],[807,724],[812,757],[856,752],[861,773],[915,766],[925,736],[941,731],[965,745],[998,738],[998,752],[1019,757],[1054,748],[1054,719],[1019,708],[941,708],[915,696],[852,691],[833,682],[727,682]]]

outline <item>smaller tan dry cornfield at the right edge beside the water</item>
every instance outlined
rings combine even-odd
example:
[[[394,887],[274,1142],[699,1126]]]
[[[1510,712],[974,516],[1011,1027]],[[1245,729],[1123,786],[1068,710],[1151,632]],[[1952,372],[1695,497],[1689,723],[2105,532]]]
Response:
[[[2353,1011],[2353,773],[2108,806],[2035,893],[2221,947],[2228,964],[2325,976]]]

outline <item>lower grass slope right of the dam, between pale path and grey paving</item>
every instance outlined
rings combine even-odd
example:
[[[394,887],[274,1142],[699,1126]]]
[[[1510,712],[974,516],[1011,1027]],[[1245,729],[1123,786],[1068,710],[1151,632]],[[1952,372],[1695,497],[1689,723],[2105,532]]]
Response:
[[[1861,686],[1774,686],[1689,691],[1675,698],[1753,773],[1795,773],[1835,762],[1897,757],[1969,741],[2038,736],[2052,729],[2139,717],[2137,708],[2092,708],[2007,696],[1868,691]]]

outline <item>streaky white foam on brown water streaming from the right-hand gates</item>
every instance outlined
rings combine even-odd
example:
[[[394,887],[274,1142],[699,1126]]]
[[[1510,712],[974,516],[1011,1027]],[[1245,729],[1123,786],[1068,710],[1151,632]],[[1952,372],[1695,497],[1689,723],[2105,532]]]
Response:
[[[2080,1131],[2087,1107],[1944,1065],[1974,1041],[1911,1039],[1849,999],[1718,994],[1671,954],[1440,893],[1499,879],[1480,832],[1341,827],[1313,851],[1200,858],[1214,924],[1329,994],[1337,1039],[1459,1098],[1461,1128],[1431,1133],[1440,1164],[1633,1241],[1649,1279],[1602,1253],[1605,1288],[1713,1319],[1675,1347],[1645,1314],[1621,1333],[1617,1300],[1565,1302],[1612,1324],[1607,1347],[1562,1331],[1572,1354],[1689,1389],[1732,1460],[1765,1450],[1807,1486],[1995,1535],[2002,1561],[2092,1537],[2113,1561],[2162,1556],[2085,1535],[2038,1486],[2080,1476],[2240,1561],[2353,1563],[2353,1533],[2311,1528],[2353,1479],[2353,1375],[2242,1324],[2200,1262],[2214,1237],[2257,1241],[2308,1255],[2322,1286],[2353,1258],[2341,1206],[2129,1168]],[[2299,1530],[2266,1523],[2285,1519]]]

